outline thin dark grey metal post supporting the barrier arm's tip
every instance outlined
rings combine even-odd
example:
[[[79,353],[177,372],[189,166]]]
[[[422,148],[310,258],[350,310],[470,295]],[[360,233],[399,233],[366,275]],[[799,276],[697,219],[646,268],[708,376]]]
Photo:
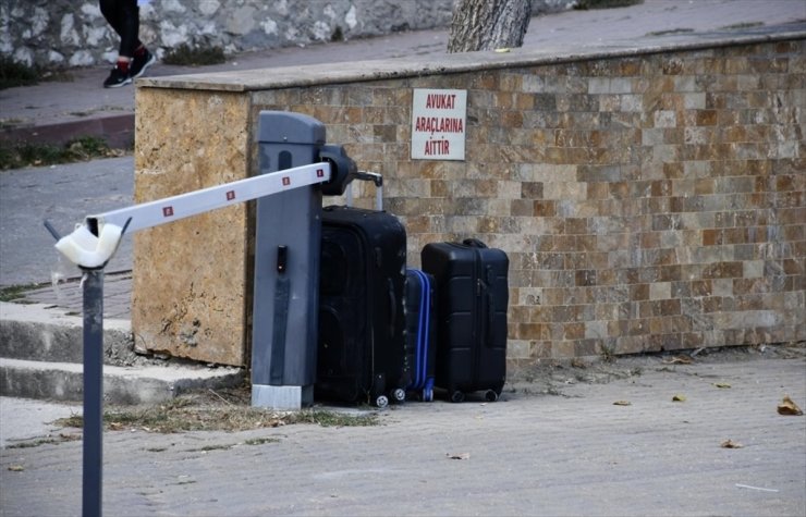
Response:
[[[84,470],[82,515],[101,516],[103,269],[84,271]]]

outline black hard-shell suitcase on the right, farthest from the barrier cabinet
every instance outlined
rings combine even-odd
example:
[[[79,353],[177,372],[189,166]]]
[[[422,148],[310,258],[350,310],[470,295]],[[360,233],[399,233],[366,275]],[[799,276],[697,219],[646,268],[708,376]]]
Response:
[[[506,254],[465,239],[427,244],[420,258],[439,294],[436,385],[453,402],[480,390],[497,401],[506,378]]]

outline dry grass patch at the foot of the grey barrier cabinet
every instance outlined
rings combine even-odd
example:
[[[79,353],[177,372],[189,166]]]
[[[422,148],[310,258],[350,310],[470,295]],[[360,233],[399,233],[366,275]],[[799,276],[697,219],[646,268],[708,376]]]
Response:
[[[322,409],[277,413],[246,404],[232,404],[220,395],[216,395],[221,399],[208,398],[208,401],[199,402],[198,397],[191,396],[149,406],[110,407],[103,411],[103,427],[110,431],[139,429],[170,434],[187,431],[247,431],[296,423],[313,423],[322,427],[365,427],[380,423],[376,414],[344,415]],[[62,427],[82,428],[84,418],[81,415],[73,415],[61,418],[54,423]],[[266,442],[255,442],[249,445],[259,443]]]

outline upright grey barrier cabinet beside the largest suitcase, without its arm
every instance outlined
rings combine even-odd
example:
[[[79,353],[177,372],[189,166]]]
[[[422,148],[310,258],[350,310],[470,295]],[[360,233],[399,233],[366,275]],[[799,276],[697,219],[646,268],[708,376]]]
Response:
[[[331,163],[330,182],[257,201],[253,406],[300,409],[314,402],[322,194],[343,194],[356,173],[343,148],[325,145],[325,125],[318,120],[260,113],[260,174],[319,161]]]

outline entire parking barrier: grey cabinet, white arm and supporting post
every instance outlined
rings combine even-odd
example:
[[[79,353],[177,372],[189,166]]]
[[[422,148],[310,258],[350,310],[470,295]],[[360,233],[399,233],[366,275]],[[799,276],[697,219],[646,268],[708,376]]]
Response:
[[[84,515],[101,515],[103,268],[126,232],[257,199],[252,405],[291,410],[313,403],[321,200],[343,194],[358,174],[341,146],[325,141],[314,118],[262,111],[258,176],[87,216],[65,236],[45,221],[56,248],[84,274]]]

